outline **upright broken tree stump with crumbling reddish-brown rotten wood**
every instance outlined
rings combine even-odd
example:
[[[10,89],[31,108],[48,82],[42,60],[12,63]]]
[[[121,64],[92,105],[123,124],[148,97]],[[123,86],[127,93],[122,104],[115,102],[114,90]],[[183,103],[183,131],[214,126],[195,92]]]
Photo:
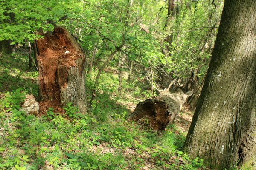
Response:
[[[36,41],[41,100],[65,106],[68,102],[86,112],[85,56],[76,40],[62,27]]]

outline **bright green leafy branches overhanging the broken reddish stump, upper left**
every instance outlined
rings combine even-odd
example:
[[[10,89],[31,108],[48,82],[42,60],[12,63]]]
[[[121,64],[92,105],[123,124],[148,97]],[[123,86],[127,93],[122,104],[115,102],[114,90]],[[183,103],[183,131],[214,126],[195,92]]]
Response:
[[[52,30],[64,16],[73,17],[81,5],[72,0],[5,0],[0,2],[0,41],[24,43],[42,36],[35,34],[39,28]]]

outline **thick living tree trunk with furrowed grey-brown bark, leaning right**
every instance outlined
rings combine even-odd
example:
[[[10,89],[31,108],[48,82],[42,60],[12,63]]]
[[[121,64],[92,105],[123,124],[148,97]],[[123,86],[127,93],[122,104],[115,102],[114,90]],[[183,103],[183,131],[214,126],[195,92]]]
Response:
[[[256,161],[255,16],[255,0],[224,3],[212,59],[184,146],[190,157],[200,157],[212,168],[228,169],[238,161]]]

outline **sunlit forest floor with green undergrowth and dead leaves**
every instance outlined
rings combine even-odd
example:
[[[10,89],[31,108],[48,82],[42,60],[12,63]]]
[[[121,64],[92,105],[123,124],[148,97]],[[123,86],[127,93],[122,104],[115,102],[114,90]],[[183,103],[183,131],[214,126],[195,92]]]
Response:
[[[127,81],[125,74],[122,95],[117,95],[118,75],[108,68],[90,113],[68,105],[64,113],[48,108],[26,115],[19,111],[23,95],[38,96],[38,74],[27,65],[21,54],[0,55],[0,169],[205,169],[203,160],[191,160],[181,151],[191,112],[183,109],[162,132],[151,130],[145,119],[127,121],[139,100],[151,96],[141,89],[140,77]],[[95,74],[86,79],[87,100]]]

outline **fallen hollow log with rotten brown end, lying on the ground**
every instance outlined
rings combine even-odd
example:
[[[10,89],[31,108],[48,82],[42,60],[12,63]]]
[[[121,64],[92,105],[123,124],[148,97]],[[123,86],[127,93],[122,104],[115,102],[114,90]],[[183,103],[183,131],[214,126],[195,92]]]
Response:
[[[184,94],[181,90],[172,93],[168,90],[161,91],[159,96],[139,102],[130,120],[148,118],[148,123],[154,130],[164,130],[175,119],[190,95],[192,92]]]

